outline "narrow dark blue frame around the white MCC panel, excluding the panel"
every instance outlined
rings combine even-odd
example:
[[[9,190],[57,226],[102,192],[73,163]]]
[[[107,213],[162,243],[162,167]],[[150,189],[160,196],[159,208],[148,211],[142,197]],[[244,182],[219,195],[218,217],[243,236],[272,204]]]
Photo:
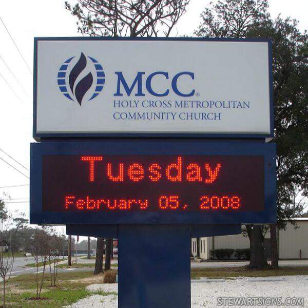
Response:
[[[265,42],[268,44],[268,75],[269,75],[269,134],[249,133],[37,133],[37,42],[38,41],[222,41],[222,42]],[[34,37],[34,69],[33,69],[33,138],[40,141],[43,138],[123,138],[123,137],[171,137],[171,138],[273,138],[274,137],[274,99],[273,99],[273,65],[272,65],[272,41],[265,38],[203,38],[203,37]]]

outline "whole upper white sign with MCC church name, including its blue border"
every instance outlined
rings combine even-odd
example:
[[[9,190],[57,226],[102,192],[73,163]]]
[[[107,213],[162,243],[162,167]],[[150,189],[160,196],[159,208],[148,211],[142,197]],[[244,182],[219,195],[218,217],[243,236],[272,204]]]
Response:
[[[36,38],[34,137],[271,136],[267,41]]]

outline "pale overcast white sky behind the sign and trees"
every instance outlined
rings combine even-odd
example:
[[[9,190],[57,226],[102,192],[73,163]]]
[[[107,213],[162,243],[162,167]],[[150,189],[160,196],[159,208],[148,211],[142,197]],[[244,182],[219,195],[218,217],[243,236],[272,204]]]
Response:
[[[200,13],[208,3],[208,0],[191,0],[187,13],[172,35],[192,35],[200,24]],[[307,0],[269,0],[269,12],[273,18],[279,13],[282,17],[296,18],[301,31],[308,29]],[[80,34],[76,18],[64,8],[64,0],[1,1],[0,17],[5,24],[0,20],[0,197],[4,196],[9,209],[18,209],[28,216],[29,152],[30,143],[34,142],[33,37]],[[13,185],[18,186],[6,187]]]

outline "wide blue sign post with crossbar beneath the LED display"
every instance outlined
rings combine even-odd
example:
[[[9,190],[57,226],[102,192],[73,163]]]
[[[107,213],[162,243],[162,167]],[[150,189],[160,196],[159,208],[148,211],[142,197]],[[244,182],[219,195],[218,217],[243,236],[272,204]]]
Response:
[[[118,238],[119,307],[190,307],[190,238],[241,225],[67,225],[67,234]]]

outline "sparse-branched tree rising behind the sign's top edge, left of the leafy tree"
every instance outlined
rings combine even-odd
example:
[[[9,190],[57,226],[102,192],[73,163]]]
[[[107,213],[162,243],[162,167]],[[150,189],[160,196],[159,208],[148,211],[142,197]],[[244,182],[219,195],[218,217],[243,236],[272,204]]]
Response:
[[[90,36],[169,36],[190,0],[78,0],[65,8]]]

